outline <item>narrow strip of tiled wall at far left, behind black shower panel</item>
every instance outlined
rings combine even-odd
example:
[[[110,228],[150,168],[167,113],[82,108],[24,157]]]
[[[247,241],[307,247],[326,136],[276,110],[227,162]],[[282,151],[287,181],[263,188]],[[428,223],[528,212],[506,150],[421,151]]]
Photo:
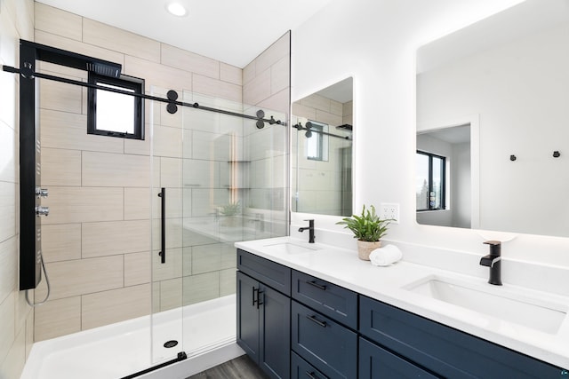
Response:
[[[19,67],[20,38],[34,39],[32,0],[0,1],[0,64]],[[20,378],[34,312],[19,291],[18,77],[0,72],[0,378]]]

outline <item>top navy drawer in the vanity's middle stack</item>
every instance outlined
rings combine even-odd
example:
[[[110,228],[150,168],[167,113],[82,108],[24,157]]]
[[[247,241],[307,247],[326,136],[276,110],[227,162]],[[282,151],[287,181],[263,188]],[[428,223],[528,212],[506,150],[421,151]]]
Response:
[[[357,293],[293,270],[293,299],[310,308],[357,329]]]

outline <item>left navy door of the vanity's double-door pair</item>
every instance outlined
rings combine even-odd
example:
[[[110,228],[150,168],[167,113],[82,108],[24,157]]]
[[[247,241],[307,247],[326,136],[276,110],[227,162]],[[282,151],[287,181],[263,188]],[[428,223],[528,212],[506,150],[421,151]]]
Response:
[[[259,310],[256,299],[259,282],[237,272],[237,344],[259,363]]]

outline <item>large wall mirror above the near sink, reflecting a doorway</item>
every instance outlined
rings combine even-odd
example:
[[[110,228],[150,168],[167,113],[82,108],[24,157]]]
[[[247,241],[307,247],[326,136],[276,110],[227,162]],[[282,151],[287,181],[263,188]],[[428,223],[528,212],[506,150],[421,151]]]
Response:
[[[527,0],[417,55],[417,221],[569,236],[569,2]]]

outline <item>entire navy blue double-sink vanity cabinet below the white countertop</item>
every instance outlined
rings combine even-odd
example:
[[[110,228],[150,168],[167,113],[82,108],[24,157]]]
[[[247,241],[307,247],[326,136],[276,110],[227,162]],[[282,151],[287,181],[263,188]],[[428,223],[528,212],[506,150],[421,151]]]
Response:
[[[566,371],[237,250],[237,343],[274,378],[557,378]]]

